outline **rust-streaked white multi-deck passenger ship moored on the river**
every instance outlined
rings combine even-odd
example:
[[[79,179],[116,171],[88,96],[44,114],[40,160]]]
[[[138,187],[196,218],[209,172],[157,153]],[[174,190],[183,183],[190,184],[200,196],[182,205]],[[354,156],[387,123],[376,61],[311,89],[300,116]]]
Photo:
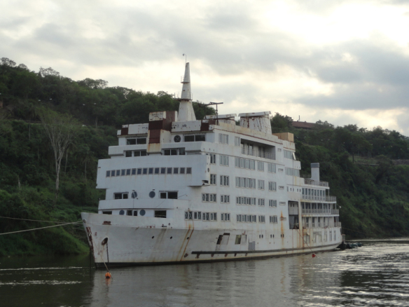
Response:
[[[319,163],[300,175],[293,134],[270,111],[197,120],[186,63],[179,111],[123,125],[99,160],[97,213],[81,213],[95,266],[284,257],[342,243]],[[240,118],[240,125],[237,118]]]

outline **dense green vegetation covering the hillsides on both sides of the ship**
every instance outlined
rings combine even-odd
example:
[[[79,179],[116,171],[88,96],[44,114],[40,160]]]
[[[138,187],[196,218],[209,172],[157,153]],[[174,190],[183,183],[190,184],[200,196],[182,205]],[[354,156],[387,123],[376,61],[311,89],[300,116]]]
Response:
[[[198,103],[194,108],[197,118],[214,112]],[[98,198],[104,198],[95,189],[97,161],[116,144],[116,130],[124,123],[146,122],[149,112],[177,109],[179,102],[165,92],[109,87],[103,80],[73,81],[51,68],[29,71],[2,58],[0,233],[53,225],[46,221],[79,221],[82,211],[95,212]],[[62,157],[57,199],[54,151],[39,110],[72,116],[80,126]],[[409,159],[407,137],[379,127],[335,128],[319,122],[305,131],[293,130],[290,123],[291,118],[276,114],[273,132],[294,133],[305,172],[310,163],[320,163],[321,177],[342,207],[348,236],[409,234],[409,165],[394,165],[394,160]],[[86,252],[84,240],[81,224],[10,234],[0,236],[0,256]]]

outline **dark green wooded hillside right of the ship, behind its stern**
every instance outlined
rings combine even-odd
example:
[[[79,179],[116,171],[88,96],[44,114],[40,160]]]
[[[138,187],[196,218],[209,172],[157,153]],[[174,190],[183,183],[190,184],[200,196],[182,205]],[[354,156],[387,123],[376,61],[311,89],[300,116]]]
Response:
[[[321,180],[337,196],[348,238],[409,235],[408,137],[381,127],[334,127],[322,121],[312,130],[298,130],[291,122],[275,114],[272,130],[293,132],[303,174],[319,162]]]

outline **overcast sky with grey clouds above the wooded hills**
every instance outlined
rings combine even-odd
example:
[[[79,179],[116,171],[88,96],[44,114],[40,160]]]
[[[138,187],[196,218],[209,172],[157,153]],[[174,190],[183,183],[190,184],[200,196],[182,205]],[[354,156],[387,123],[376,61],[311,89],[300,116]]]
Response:
[[[409,136],[409,1],[3,0],[0,57],[74,80],[180,93],[220,114]]]

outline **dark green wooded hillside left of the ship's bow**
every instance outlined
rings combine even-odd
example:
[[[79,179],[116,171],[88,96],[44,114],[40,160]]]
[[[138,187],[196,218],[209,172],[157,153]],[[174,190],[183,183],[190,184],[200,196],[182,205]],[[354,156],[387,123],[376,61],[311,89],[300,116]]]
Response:
[[[193,103],[197,118],[213,109]],[[55,201],[55,157],[39,110],[74,116],[81,129],[61,162],[60,193]],[[79,221],[96,212],[104,191],[95,189],[98,159],[108,158],[116,130],[146,123],[153,111],[174,111],[179,102],[165,92],[142,93],[109,87],[104,80],[73,81],[52,68],[30,71],[25,64],[0,60],[0,233],[49,226],[46,221]],[[88,250],[85,232],[65,226],[0,236],[0,256],[78,253]]]

